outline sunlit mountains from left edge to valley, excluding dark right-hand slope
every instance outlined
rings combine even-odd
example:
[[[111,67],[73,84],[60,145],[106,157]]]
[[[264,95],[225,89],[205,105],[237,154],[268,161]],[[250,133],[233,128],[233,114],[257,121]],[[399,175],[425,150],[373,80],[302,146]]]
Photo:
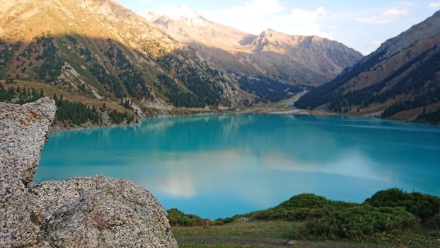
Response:
[[[250,35],[176,8],[178,18],[147,20],[112,0],[1,1],[0,78],[155,115],[279,101],[362,57],[328,39]]]

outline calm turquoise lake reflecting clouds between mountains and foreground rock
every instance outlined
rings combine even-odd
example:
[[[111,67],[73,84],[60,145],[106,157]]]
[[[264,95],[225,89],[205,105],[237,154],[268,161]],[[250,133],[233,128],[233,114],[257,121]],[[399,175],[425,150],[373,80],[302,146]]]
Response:
[[[226,218],[299,193],[362,202],[391,187],[440,196],[440,128],[337,116],[227,114],[53,133],[35,181],[103,174],[165,208]]]

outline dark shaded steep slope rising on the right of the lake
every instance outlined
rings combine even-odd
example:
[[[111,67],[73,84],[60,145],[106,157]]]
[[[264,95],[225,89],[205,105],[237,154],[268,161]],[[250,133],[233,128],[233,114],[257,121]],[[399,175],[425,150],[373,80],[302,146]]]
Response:
[[[354,115],[440,123],[440,11],[296,102]]]

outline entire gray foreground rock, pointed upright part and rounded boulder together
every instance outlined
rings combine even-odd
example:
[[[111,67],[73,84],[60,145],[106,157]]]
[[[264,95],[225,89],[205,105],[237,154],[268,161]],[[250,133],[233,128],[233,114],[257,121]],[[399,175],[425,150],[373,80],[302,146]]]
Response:
[[[105,176],[31,183],[55,114],[0,103],[0,247],[177,247],[144,188]]]

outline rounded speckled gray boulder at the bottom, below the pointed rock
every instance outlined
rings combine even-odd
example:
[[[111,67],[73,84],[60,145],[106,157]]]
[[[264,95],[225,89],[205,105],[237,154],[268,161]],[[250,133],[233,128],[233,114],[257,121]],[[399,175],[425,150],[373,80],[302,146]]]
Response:
[[[161,203],[132,182],[94,176],[47,181],[30,192],[54,247],[177,246]]]

